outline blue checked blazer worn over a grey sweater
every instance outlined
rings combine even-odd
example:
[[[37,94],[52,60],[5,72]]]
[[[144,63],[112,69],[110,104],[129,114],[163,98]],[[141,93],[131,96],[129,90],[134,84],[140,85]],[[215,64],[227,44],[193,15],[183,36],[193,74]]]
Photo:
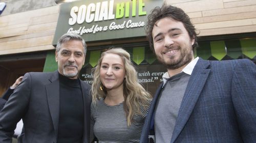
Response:
[[[161,90],[162,84],[148,111],[140,142],[148,142]],[[245,59],[221,62],[199,59],[188,81],[170,142],[255,141],[255,64]]]

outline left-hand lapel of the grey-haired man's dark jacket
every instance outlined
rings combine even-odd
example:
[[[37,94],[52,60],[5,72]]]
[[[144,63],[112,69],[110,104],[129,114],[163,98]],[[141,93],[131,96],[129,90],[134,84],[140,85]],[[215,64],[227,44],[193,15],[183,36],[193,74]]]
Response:
[[[49,78],[50,84],[46,85],[47,101],[52,117],[52,122],[56,136],[58,135],[59,123],[59,80],[58,71],[54,72],[53,76]]]

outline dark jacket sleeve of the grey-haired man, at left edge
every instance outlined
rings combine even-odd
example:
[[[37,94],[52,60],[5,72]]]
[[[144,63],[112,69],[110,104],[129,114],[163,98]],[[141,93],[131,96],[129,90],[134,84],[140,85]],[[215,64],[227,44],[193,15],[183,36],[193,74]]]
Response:
[[[16,87],[12,96],[6,102],[5,107],[0,112],[0,142],[11,143],[11,138],[16,128],[16,124],[22,119],[29,104],[31,77],[27,73],[23,81]]]

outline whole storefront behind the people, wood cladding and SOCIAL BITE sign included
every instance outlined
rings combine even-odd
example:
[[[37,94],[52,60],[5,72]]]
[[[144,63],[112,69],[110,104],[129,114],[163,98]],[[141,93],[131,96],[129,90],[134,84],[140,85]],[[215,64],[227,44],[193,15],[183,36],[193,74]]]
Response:
[[[112,46],[123,47],[131,54],[139,82],[154,94],[166,68],[150,49],[144,28],[148,13],[163,2],[81,0],[1,15],[0,93],[26,72],[55,71],[57,63],[52,45],[56,45],[61,35],[74,32],[80,34],[88,45],[86,63],[79,75],[82,80],[92,83],[92,68],[102,51]],[[204,0],[165,2],[182,8],[195,24],[200,36],[195,57],[218,61],[249,59],[256,63],[254,3]],[[12,5],[8,5],[6,10]]]

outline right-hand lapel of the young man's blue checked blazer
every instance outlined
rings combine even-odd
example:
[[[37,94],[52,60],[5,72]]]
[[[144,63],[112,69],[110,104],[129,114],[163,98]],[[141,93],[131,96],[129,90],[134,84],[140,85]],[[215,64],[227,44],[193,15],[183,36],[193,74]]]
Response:
[[[209,61],[204,61],[200,58],[190,76],[184,97],[181,102],[172,140],[170,141],[171,143],[174,142],[181,133],[197,103],[199,95],[210,72],[210,69],[206,69],[208,66]]]

